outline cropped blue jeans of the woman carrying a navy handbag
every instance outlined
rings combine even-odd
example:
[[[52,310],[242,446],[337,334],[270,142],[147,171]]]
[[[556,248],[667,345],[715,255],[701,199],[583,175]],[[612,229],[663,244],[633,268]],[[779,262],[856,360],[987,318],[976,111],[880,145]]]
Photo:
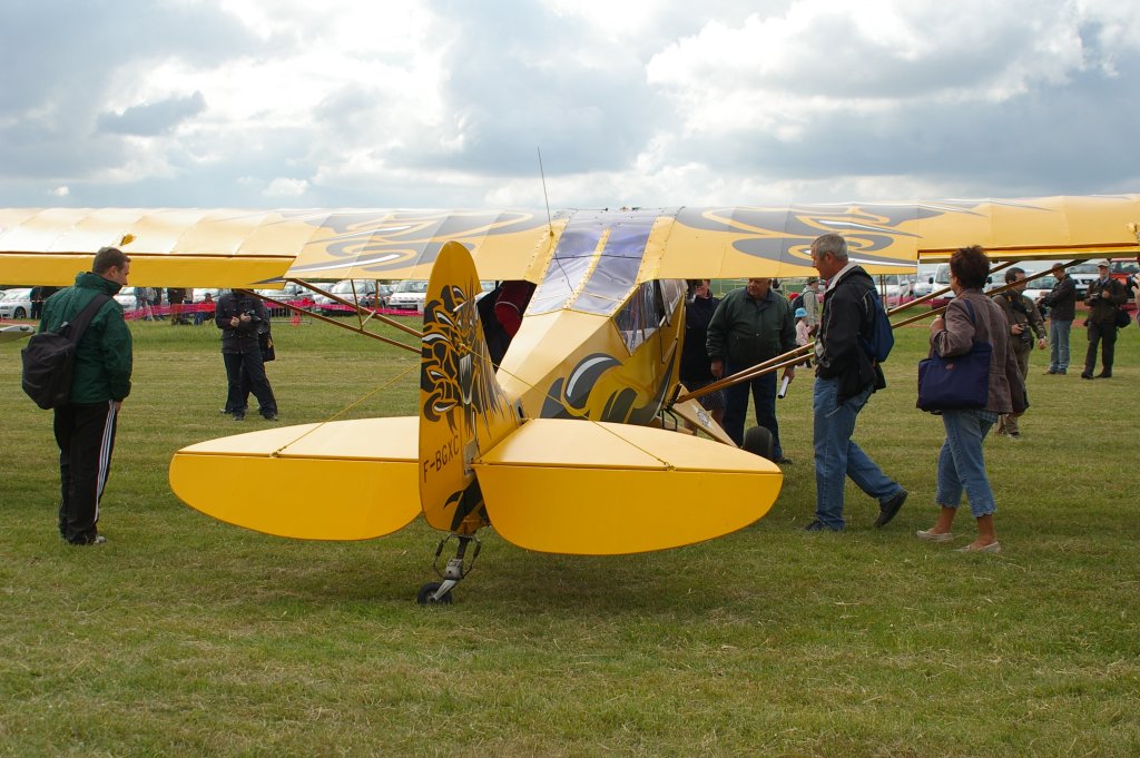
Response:
[[[935,500],[947,508],[962,503],[962,490],[970,498],[970,513],[975,519],[997,510],[994,492],[986,476],[982,459],[982,441],[997,421],[992,410],[944,410],[942,424],[946,441],[938,453],[938,490]]]

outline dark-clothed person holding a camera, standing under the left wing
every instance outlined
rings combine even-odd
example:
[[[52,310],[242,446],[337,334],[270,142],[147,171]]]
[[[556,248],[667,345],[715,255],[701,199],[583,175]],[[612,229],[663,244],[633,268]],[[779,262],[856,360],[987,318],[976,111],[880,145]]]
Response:
[[[226,361],[226,380],[229,385],[225,411],[233,415],[234,421],[245,419],[249,398],[243,386],[245,378],[249,391],[258,399],[261,415],[266,421],[277,421],[277,400],[266,377],[258,337],[259,332],[269,326],[269,312],[264,303],[253,295],[231,290],[218,299],[214,324],[221,329],[221,357]]]

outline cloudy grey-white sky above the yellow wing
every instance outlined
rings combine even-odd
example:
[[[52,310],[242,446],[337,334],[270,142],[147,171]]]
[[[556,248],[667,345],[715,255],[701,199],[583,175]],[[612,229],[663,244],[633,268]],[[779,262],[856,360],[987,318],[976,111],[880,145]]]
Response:
[[[1119,0],[5,0],[0,205],[1137,193],[1138,74]]]

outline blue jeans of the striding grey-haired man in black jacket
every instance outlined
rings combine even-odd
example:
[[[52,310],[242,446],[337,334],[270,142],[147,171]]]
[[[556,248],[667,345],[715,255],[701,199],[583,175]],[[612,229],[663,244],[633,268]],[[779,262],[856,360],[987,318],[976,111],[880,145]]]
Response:
[[[844,528],[844,484],[847,476],[861,490],[877,498],[879,505],[903,491],[898,482],[883,474],[852,441],[855,418],[870,397],[869,386],[839,405],[839,380],[815,380],[812,399],[815,419],[815,517],[829,529]]]

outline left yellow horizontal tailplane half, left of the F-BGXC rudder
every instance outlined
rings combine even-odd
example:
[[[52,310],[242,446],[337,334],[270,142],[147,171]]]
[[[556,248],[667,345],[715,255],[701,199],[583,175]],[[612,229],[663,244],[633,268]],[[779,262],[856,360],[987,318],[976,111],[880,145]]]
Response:
[[[182,448],[170,486],[220,521],[298,539],[382,537],[420,514],[415,417],[303,424]]]

